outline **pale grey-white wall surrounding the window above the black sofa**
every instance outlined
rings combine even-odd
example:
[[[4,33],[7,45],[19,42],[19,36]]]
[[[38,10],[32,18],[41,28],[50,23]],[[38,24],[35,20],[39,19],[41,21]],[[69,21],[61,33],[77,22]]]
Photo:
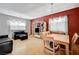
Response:
[[[7,20],[25,20],[26,21],[26,32],[29,33],[29,28],[30,28],[30,21],[27,19],[22,19],[22,18],[17,18],[13,16],[8,16],[4,14],[0,14],[0,35],[9,35],[12,36],[12,31],[9,28],[9,25],[7,23]]]

